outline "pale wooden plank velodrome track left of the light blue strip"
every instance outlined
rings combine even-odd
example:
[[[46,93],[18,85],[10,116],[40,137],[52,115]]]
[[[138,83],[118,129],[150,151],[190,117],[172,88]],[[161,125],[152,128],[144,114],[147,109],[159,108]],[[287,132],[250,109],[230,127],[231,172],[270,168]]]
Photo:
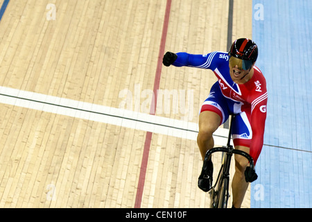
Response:
[[[140,115],[150,113],[146,92],[178,92],[180,101],[191,92],[185,110],[169,98],[157,102],[155,116],[197,124],[214,74],[159,70],[159,51],[227,51],[228,15],[228,0],[10,0],[0,22],[0,207],[209,207],[197,187],[196,136],[147,133],[17,100],[48,95]],[[239,37],[252,38],[249,0],[234,0],[232,40]]]

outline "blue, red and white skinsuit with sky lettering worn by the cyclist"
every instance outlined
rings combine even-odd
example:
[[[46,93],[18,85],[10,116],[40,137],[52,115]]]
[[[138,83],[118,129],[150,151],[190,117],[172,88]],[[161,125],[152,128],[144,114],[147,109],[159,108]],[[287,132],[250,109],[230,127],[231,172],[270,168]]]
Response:
[[[220,51],[206,55],[177,53],[173,65],[214,71],[218,82],[211,87],[200,112],[216,112],[221,117],[220,124],[227,120],[229,114],[236,114],[232,128],[234,146],[249,147],[256,164],[263,146],[268,101],[266,79],[260,69],[254,66],[252,78],[247,83],[236,84],[229,75],[229,55]]]

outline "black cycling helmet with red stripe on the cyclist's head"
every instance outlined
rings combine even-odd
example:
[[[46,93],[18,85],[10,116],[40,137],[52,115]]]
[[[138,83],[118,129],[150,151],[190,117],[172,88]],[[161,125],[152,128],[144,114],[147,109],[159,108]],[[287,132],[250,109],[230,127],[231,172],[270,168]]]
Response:
[[[258,46],[247,38],[235,40],[229,49],[229,56],[243,60],[242,68],[248,70],[258,58]]]

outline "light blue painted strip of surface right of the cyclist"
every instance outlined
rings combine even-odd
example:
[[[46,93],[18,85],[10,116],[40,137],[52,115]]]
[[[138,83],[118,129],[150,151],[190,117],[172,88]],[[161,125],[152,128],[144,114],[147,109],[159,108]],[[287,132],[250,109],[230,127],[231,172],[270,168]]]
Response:
[[[268,117],[251,207],[312,207],[312,1],[254,0]]]

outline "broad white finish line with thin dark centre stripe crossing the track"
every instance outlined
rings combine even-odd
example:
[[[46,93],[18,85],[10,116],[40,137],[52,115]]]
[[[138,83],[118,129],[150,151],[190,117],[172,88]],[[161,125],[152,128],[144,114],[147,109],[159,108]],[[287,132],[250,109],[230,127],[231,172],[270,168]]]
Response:
[[[0,103],[195,141],[198,134],[198,124],[193,122],[27,92],[9,87],[0,87]],[[225,145],[227,143],[227,135],[227,129],[219,128],[214,134],[215,144]]]

